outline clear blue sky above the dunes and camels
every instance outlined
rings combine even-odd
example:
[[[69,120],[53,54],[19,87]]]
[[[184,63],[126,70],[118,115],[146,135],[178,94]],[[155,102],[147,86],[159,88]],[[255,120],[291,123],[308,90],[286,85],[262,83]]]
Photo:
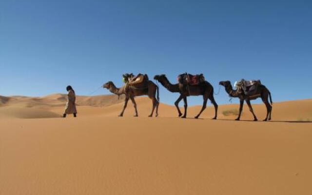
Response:
[[[261,79],[273,101],[312,98],[311,10],[309,0],[0,0],[0,95],[69,84],[88,95],[120,86],[123,73],[176,82],[187,71],[216,92],[220,80],[246,78]],[[177,97],[160,87],[161,101]],[[228,103],[223,88],[215,99]]]

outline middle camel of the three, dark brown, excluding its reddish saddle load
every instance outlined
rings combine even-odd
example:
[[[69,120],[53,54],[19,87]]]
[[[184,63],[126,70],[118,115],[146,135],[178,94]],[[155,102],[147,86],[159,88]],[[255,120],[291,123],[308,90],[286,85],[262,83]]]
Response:
[[[198,113],[198,115],[195,116],[195,118],[198,118],[200,114],[206,109],[207,107],[207,100],[210,99],[211,103],[215,106],[215,117],[212,119],[216,119],[217,116],[217,110],[218,105],[215,102],[214,98],[214,87],[208,82],[205,81],[203,84],[199,85],[188,85],[188,90],[181,91],[179,88],[179,83],[172,84],[166,77],[166,75],[156,75],[154,77],[155,80],[159,81],[162,86],[164,86],[168,91],[173,93],[180,93],[179,98],[176,99],[175,105],[178,112],[178,117],[182,116],[182,113],[179,109],[179,102],[183,99],[184,101],[184,115],[182,118],[186,118],[187,113],[187,97],[189,96],[203,96],[204,102],[203,106]]]

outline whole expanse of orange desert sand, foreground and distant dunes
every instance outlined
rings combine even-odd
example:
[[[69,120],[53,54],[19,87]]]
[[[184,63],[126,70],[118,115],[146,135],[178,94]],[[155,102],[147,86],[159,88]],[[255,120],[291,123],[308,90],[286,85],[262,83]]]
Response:
[[[311,195],[312,99],[273,103],[271,122],[223,113],[177,117],[136,98],[78,96],[78,117],[61,118],[66,96],[0,97],[0,195]],[[263,119],[263,104],[253,105]],[[189,107],[194,117],[200,106]]]

